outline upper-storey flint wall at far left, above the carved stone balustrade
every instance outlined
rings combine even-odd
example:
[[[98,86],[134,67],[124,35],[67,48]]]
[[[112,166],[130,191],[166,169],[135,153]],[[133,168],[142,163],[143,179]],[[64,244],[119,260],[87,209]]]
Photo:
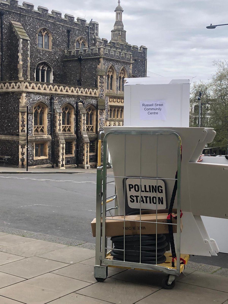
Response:
[[[25,3],[21,7],[17,5],[16,0],[11,0],[10,5],[5,2],[1,3],[1,10],[5,13],[3,16],[4,81],[18,79],[16,78],[18,73],[15,73],[18,61],[18,39],[12,31],[10,20],[13,20],[22,24],[26,34],[30,38],[30,79],[32,81],[35,80],[36,65],[39,62],[46,61],[53,67],[53,82],[66,83],[62,59],[64,57],[64,50],[67,49],[68,44],[67,29],[71,29],[70,48],[75,47],[75,40],[80,36],[88,42],[88,26],[85,19],[78,19],[75,22],[74,17],[70,15],[65,15],[65,18],[62,19],[59,13],[53,12],[49,14],[48,10],[42,8],[38,8],[38,11],[36,11],[33,5]],[[51,50],[39,49],[37,47],[37,34],[41,28],[47,28],[52,35]],[[92,22],[90,29],[91,46],[95,44],[93,39],[94,30],[97,31],[94,22]],[[26,41],[26,43],[28,42]],[[17,48],[16,52],[15,46]],[[25,48],[25,45],[23,45],[23,48]],[[28,57],[26,54],[25,56]],[[11,71],[9,71],[9,67],[11,67]]]

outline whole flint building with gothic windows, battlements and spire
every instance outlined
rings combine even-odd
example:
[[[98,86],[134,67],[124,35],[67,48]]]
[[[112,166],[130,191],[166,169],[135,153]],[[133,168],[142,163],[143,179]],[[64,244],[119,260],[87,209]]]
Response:
[[[108,42],[98,22],[0,0],[0,155],[9,164],[96,167],[99,132],[123,125],[124,78],[146,76],[147,48],[126,42],[120,1],[115,12]]]

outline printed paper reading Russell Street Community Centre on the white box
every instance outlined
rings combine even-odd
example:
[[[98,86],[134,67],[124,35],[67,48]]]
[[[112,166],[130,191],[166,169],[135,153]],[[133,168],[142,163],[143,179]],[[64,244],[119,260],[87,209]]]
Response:
[[[140,120],[166,120],[164,101],[140,101]]]

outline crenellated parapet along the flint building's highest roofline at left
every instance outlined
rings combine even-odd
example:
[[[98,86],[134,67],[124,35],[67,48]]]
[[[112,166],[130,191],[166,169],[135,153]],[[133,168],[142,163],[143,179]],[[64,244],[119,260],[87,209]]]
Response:
[[[77,26],[82,29],[87,29],[89,24],[86,22],[86,19],[78,17],[75,20],[75,17],[69,14],[65,14],[62,16],[62,13],[56,10],[52,10],[49,13],[47,7],[38,6],[37,10],[34,9],[34,4],[30,2],[23,2],[22,5],[18,4],[18,0],[0,0],[0,4],[2,9],[13,9],[16,12],[24,13],[26,15],[32,15],[36,17],[45,18],[47,20],[60,22],[67,26]],[[92,21],[90,26],[90,31],[94,32],[96,36],[98,36],[98,22]]]

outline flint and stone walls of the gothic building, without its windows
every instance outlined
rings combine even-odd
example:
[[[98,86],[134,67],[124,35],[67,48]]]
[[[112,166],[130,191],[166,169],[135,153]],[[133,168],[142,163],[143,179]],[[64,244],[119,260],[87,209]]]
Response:
[[[83,37],[88,43],[88,23],[83,18],[77,18],[65,14],[62,17],[60,12],[51,11],[39,6],[34,9],[34,5],[23,2],[18,5],[17,0],[1,1],[0,10],[4,12],[3,16],[3,50],[4,50],[4,77],[3,81],[25,80],[35,81],[35,69],[38,63],[46,62],[53,69],[53,83],[65,84],[67,86],[81,86],[85,88],[98,88],[98,97],[81,97],[81,102],[86,109],[93,105],[97,110],[96,131],[95,133],[86,134],[85,131],[85,110],[81,109],[78,116],[78,156],[75,150],[74,156],[67,157],[64,155],[64,140],[75,140],[76,133],[76,107],[77,95],[54,95],[54,100],[59,107],[57,113],[60,121],[55,122],[54,115],[54,162],[56,165],[64,166],[76,163],[76,157],[80,165],[88,165],[89,162],[96,163],[97,155],[88,154],[89,139],[97,140],[97,133],[103,130],[105,119],[109,119],[109,98],[122,98],[123,92],[119,92],[119,72],[125,67],[127,76],[143,77],[145,75],[147,48],[129,45],[123,42],[115,42],[106,39],[100,39],[98,36],[98,23],[92,22],[90,28],[90,45],[83,49],[76,48],[75,42],[78,37]],[[114,19],[113,14],[113,19]],[[30,40],[26,36],[13,31],[12,23],[20,22]],[[17,24],[17,23],[15,23]],[[50,50],[38,48],[37,35],[40,29],[45,28],[50,33]],[[70,32],[70,41],[68,46],[68,33]],[[1,34],[1,33],[0,33]],[[21,37],[22,36],[22,37]],[[2,37],[0,37],[2,38]],[[1,50],[0,50],[1,52]],[[1,58],[1,53],[0,53]],[[113,92],[106,91],[106,74],[108,67],[113,65],[116,71],[116,84]],[[0,71],[1,73],[1,71]],[[1,76],[1,75],[0,75]],[[30,85],[30,83],[29,83]],[[41,83],[41,86],[43,84]],[[11,86],[11,84],[9,84]],[[20,88],[20,87],[19,87]],[[42,87],[46,88],[46,86]],[[18,88],[17,88],[18,89]],[[26,88],[24,89],[26,92]],[[44,91],[42,91],[44,92]],[[53,92],[52,92],[53,93]],[[21,99],[21,108],[19,114],[19,99]],[[0,91],[0,111],[2,119],[0,120],[0,135],[19,136],[20,126],[20,166],[24,165],[25,159],[25,127],[26,127],[26,103],[28,105],[28,135],[29,135],[29,166],[51,164],[51,140],[50,140],[50,93],[33,94],[33,93],[1,93]],[[47,106],[47,134],[33,134],[33,106],[37,102],[42,102]],[[64,104],[70,103],[74,108],[73,134],[70,139],[68,134],[62,133],[62,130],[56,130],[61,125],[61,108]],[[23,110],[23,111],[22,111]],[[84,112],[83,112],[84,111]],[[59,116],[60,115],[60,116]],[[81,122],[81,115],[83,121]],[[20,121],[19,121],[20,117]],[[23,125],[23,126],[22,126]],[[59,128],[58,128],[59,129]],[[82,130],[83,129],[83,130]],[[58,134],[57,134],[58,132]],[[59,134],[61,133],[61,135]],[[72,134],[72,135],[73,135]],[[61,137],[61,139],[60,139]],[[43,138],[43,140],[42,140]],[[4,138],[2,137],[2,140]],[[48,157],[34,159],[34,144],[36,141],[48,142]],[[6,141],[4,140],[4,143]],[[8,140],[6,147],[9,147]],[[61,142],[61,143],[60,143]],[[0,142],[3,144],[3,142]],[[61,146],[61,147],[60,147]],[[2,148],[4,151],[5,148]],[[6,152],[9,151],[5,150]],[[12,150],[15,149],[14,163],[18,162],[18,148],[12,144]],[[60,151],[61,149],[61,151]],[[12,151],[11,151],[12,152]],[[61,158],[61,161],[60,161]],[[94,164],[92,164],[94,165]]]

